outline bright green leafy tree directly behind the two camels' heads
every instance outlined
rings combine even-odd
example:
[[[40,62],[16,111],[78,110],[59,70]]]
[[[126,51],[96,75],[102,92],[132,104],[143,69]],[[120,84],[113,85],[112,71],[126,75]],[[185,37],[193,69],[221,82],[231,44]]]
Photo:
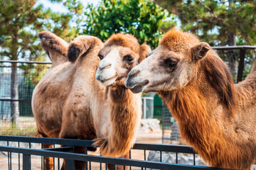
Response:
[[[156,47],[163,34],[161,28],[174,26],[174,21],[164,21],[169,13],[164,9],[142,0],[102,0],[100,6],[88,6],[85,12],[84,34],[95,35],[107,40],[112,33],[130,33]]]

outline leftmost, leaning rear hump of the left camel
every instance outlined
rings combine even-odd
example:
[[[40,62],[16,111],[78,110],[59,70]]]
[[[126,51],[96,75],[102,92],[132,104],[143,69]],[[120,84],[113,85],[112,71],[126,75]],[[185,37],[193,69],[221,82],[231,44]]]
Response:
[[[42,31],[38,33],[38,38],[41,39],[41,46],[46,54],[50,57],[53,64],[67,62],[68,42],[59,38],[54,33]]]

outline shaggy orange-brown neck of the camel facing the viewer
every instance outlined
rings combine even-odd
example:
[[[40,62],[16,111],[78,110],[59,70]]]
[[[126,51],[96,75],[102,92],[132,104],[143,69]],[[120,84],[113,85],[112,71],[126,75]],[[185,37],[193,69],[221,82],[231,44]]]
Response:
[[[108,145],[114,147],[112,155],[123,154],[128,152],[135,142],[142,113],[142,98],[140,94],[132,94],[125,86],[115,86],[108,89],[107,100],[110,100]]]

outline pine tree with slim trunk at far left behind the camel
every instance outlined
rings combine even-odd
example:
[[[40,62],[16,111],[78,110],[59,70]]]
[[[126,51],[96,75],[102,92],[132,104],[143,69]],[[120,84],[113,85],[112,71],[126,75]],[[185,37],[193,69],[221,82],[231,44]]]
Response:
[[[40,30],[50,30],[65,40],[73,39],[78,35],[79,28],[70,26],[71,19],[82,13],[82,5],[77,0],[68,0],[63,3],[68,8],[68,13],[53,13],[50,9],[46,10],[42,5],[35,6],[35,4],[36,0],[0,0],[1,59],[46,60],[37,40]],[[79,21],[80,18],[77,17],[73,22]],[[11,65],[11,99],[18,99],[17,64],[15,63]],[[18,115],[18,101],[11,101],[12,123],[16,123]]]

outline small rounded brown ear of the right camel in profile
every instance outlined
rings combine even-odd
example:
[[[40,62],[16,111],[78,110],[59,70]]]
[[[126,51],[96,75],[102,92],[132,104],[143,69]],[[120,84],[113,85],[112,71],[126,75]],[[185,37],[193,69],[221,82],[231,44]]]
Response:
[[[210,50],[210,45],[206,42],[200,42],[198,45],[191,48],[192,60],[198,61],[206,57],[206,54]]]

